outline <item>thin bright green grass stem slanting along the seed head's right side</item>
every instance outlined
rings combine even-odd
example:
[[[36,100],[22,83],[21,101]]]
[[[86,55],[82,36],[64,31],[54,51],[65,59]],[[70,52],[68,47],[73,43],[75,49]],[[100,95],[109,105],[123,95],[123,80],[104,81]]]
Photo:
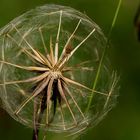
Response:
[[[111,28],[110,28],[108,36],[107,36],[106,46],[104,48],[104,51],[103,51],[103,54],[102,54],[102,57],[101,57],[101,60],[100,60],[100,63],[99,63],[98,69],[97,69],[95,81],[94,81],[93,88],[92,88],[93,91],[95,90],[97,82],[98,82],[98,78],[99,78],[99,74],[100,74],[100,71],[101,71],[102,62],[103,62],[103,59],[104,59],[104,56],[105,56],[105,53],[106,53],[106,50],[107,50],[107,47],[108,47],[108,44],[109,44],[109,41],[110,41],[112,30],[113,30],[113,28],[115,26],[115,23],[116,23],[116,20],[117,20],[117,16],[118,16],[118,13],[119,13],[119,10],[120,10],[120,7],[121,7],[121,3],[122,3],[122,0],[119,0],[118,6],[117,6],[117,9],[116,9],[116,12],[115,12],[112,24],[111,24]],[[94,97],[94,92],[92,92],[92,95],[91,95],[91,97],[89,99],[88,106],[86,108],[86,112],[90,109],[93,97]]]

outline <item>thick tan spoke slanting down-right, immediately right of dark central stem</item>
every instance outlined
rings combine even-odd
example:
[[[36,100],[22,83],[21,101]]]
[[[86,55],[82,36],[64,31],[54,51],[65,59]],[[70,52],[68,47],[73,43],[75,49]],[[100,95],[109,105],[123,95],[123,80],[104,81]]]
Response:
[[[66,103],[66,105],[67,105],[67,107],[68,107],[68,109],[69,109],[69,111],[70,111],[70,113],[71,113],[71,115],[72,115],[72,118],[73,118],[73,120],[74,120],[75,125],[77,125],[76,118],[75,118],[75,116],[74,116],[74,114],[73,114],[73,112],[72,112],[72,110],[71,110],[71,107],[70,107],[70,105],[69,105],[69,102],[68,102],[68,100],[67,100],[67,98],[66,98],[66,96],[65,96],[65,93],[64,93],[64,91],[63,91],[63,88],[62,88],[62,85],[61,85],[61,81],[60,81],[59,79],[58,79],[58,90],[59,90],[59,92],[60,92],[60,94],[61,94],[62,99],[65,101],[65,103]]]

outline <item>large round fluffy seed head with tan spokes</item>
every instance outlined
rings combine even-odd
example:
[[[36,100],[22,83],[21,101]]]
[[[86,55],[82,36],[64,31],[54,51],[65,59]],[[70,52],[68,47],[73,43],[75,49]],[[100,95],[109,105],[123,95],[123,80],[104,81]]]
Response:
[[[1,29],[0,44],[0,97],[21,123],[78,133],[114,106],[118,77],[107,55],[101,62],[106,38],[77,10],[31,10]]]

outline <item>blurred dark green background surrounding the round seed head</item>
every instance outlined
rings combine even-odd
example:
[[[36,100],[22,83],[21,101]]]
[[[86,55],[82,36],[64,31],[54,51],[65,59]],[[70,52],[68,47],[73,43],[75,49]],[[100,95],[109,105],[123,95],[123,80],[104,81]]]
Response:
[[[47,3],[71,6],[86,13],[107,35],[118,0],[0,0],[0,28],[22,13]],[[110,59],[121,75],[117,105],[82,140],[140,140],[140,42],[133,25],[139,3],[139,0],[123,0],[111,35]],[[48,135],[48,140],[62,139],[61,135]],[[31,129],[0,111],[0,140],[31,138]]]

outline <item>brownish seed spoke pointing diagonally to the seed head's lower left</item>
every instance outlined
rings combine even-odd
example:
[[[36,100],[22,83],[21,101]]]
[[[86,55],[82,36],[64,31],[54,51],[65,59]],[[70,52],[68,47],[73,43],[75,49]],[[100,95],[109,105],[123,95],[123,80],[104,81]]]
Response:
[[[50,80],[50,77],[48,76],[46,79],[44,79],[33,91],[33,95],[30,96],[29,98],[27,98],[19,107],[18,109],[15,111],[15,114],[17,115],[23,108],[24,106],[30,102],[34,97],[36,97],[37,95],[40,94],[40,92],[43,91],[43,89],[47,86],[48,82]]]

